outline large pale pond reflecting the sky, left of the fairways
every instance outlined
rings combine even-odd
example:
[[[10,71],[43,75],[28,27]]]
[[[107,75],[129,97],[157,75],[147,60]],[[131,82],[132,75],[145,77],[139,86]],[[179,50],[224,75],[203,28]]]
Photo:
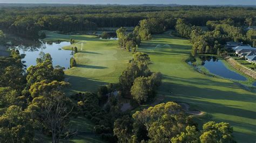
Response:
[[[73,52],[64,50],[62,47],[70,45],[70,42],[40,42],[39,44],[24,46],[19,45],[15,49],[19,50],[20,54],[25,54],[25,65],[28,68],[31,65],[36,65],[36,59],[39,58],[39,53],[49,53],[52,58],[53,66],[60,66],[68,69],[70,67],[70,58],[73,57]]]

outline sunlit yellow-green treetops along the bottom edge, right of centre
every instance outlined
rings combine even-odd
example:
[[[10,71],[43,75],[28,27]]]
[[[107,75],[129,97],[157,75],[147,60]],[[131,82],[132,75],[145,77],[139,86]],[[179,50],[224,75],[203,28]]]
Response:
[[[235,142],[228,123],[197,124],[174,102],[158,104],[114,121],[119,142]]]

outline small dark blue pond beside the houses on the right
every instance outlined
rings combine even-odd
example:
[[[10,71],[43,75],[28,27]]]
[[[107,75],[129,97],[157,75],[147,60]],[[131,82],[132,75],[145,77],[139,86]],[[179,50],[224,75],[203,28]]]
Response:
[[[230,78],[233,80],[246,81],[247,78],[228,69],[223,60],[218,60],[214,56],[200,56],[202,61],[202,66],[208,69],[212,74],[219,75],[225,78]]]

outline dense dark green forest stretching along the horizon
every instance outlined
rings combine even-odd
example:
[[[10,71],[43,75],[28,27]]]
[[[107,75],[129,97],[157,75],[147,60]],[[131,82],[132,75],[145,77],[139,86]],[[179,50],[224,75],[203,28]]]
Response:
[[[0,7],[0,29],[36,39],[39,30],[82,31],[97,27],[137,26],[140,20],[161,19],[166,28],[174,28],[178,18],[196,26],[208,20],[232,18],[235,25],[247,17],[255,19],[255,8],[210,6],[36,6]]]

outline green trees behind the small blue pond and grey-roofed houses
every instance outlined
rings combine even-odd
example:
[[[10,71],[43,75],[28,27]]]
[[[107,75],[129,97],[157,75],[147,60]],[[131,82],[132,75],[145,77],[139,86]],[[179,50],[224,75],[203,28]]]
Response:
[[[245,25],[251,26],[252,18],[247,18]],[[228,41],[242,42],[255,46],[255,29],[245,30],[236,26],[231,18],[208,21],[207,29],[186,23],[185,19],[178,19],[176,32],[180,37],[191,39],[193,44],[191,54],[225,54],[224,45]]]

